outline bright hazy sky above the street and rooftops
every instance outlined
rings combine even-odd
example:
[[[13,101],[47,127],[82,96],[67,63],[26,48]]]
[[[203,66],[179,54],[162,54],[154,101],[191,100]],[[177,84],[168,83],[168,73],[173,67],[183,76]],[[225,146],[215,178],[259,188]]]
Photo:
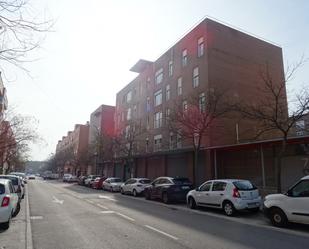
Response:
[[[54,26],[24,66],[8,66],[9,106],[38,121],[44,139],[31,159],[45,160],[58,140],[85,124],[101,104],[137,74],[139,60],[156,60],[205,17],[263,38],[283,49],[285,65],[309,58],[306,0],[29,0],[31,13]],[[32,56],[32,57],[31,57]],[[309,62],[288,91],[309,86]]]

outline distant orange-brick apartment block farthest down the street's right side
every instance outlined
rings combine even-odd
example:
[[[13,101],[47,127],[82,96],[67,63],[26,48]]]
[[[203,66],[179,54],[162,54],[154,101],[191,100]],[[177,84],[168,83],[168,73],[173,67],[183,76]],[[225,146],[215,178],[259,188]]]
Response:
[[[89,123],[86,125],[76,124],[73,131],[69,131],[58,141],[56,157],[60,173],[71,173],[74,175],[86,174],[88,169],[88,140]]]

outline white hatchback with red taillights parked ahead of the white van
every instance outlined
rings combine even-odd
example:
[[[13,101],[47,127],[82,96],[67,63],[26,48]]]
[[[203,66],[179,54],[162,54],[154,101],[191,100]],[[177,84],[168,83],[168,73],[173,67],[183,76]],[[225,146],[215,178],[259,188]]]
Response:
[[[238,210],[259,211],[261,196],[248,180],[210,180],[191,190],[187,194],[187,203],[192,209],[198,206],[219,208],[232,216]]]

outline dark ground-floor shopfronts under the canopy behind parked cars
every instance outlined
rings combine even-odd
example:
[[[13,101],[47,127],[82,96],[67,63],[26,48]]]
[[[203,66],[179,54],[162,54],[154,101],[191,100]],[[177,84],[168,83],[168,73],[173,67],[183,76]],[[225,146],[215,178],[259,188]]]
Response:
[[[281,141],[267,140],[203,149],[199,153],[196,183],[209,179],[248,179],[262,192],[276,191],[276,158]],[[169,151],[135,157],[132,166],[125,160],[102,165],[105,176],[122,179],[159,176],[193,179],[193,151]],[[309,174],[309,136],[290,138],[282,158],[281,183],[285,191],[302,176]]]

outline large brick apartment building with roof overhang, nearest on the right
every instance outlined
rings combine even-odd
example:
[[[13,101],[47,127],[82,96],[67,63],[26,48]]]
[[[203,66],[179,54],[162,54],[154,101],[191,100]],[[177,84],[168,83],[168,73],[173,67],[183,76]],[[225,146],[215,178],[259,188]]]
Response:
[[[284,79],[280,47],[208,18],[156,61],[139,60],[131,68],[138,76],[117,93],[115,113],[118,134],[127,136],[130,127],[136,125],[143,130],[136,139],[135,174],[192,178],[192,142],[175,136],[166,125],[175,102],[182,102],[186,108],[187,98],[198,96],[203,103],[206,93],[218,88],[244,102],[265,98],[257,91],[265,65],[273,82]],[[286,96],[283,101],[287,110]],[[237,116],[228,122],[217,120],[203,138],[202,147],[248,141],[257,129],[257,124]],[[198,182],[213,176],[212,164],[209,150],[201,152]],[[121,163],[117,167],[121,168]],[[116,172],[121,175],[122,170]]]

